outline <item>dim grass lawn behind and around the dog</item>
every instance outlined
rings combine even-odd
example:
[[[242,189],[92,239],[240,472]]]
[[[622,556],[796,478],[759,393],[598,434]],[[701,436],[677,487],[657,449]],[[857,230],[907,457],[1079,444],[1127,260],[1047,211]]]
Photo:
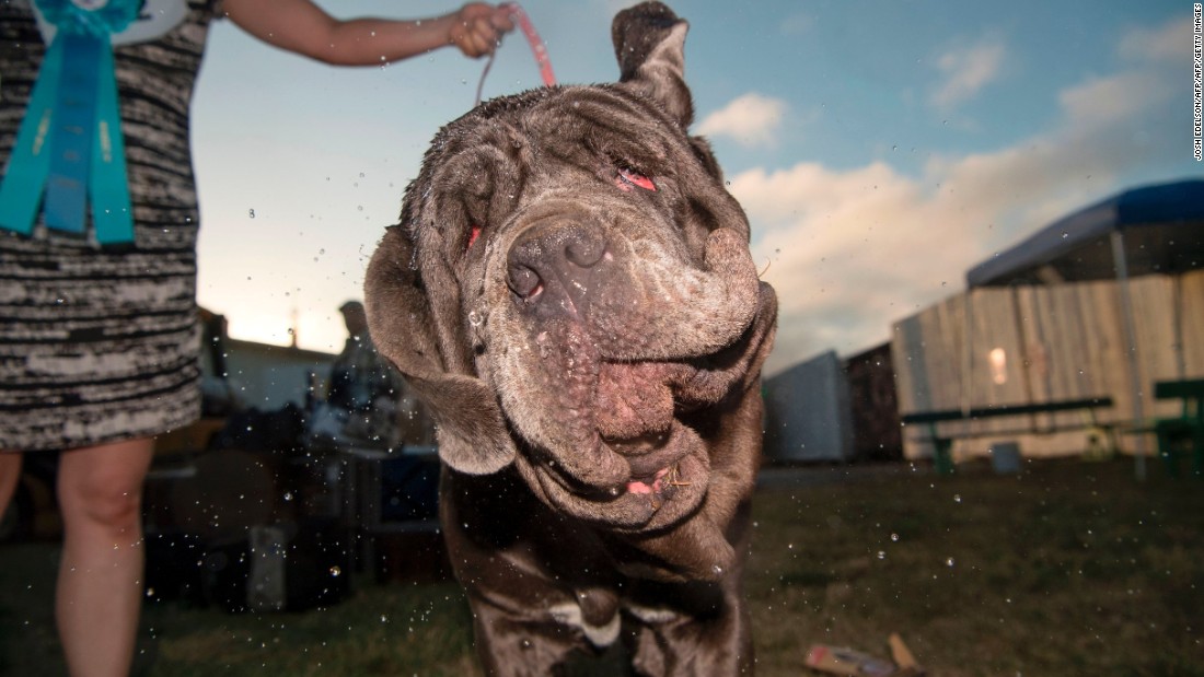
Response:
[[[811,643],[929,675],[1204,676],[1204,482],[1132,461],[810,469],[756,498],[748,594],[759,675],[807,675]],[[0,545],[0,675],[63,675],[57,547]],[[370,583],[305,613],[148,602],[146,676],[478,675],[454,583]],[[613,673],[601,672],[601,673]]]

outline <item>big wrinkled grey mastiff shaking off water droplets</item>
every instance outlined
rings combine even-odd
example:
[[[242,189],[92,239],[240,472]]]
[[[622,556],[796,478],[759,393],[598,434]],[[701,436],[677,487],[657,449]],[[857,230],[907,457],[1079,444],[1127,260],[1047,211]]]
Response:
[[[660,2],[625,10],[619,82],[443,127],[365,275],[371,334],[438,427],[489,675],[620,641],[642,675],[752,670],[742,569],[777,299],[687,132],[686,30]]]

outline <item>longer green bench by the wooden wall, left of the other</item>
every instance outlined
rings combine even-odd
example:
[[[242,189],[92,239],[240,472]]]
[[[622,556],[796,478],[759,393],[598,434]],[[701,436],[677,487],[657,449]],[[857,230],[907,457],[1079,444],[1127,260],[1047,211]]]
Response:
[[[1028,404],[1004,404],[1004,405],[988,405],[988,406],[974,406],[969,409],[943,409],[933,411],[914,411],[903,415],[903,424],[921,424],[926,426],[927,439],[933,445],[932,462],[936,465],[937,473],[948,475],[954,471],[954,457],[952,447],[955,439],[962,438],[974,438],[974,437],[1002,437],[1008,434],[1026,434],[1026,433],[1052,433],[1064,429],[1102,429],[1104,434],[1109,437],[1109,443],[1111,443],[1112,430],[1110,426],[1102,424],[1096,418],[1097,409],[1109,409],[1112,406],[1112,398],[1106,396],[1100,397],[1088,397],[1081,399],[1060,399],[1040,403],[1028,403]],[[1001,430],[960,430],[956,433],[943,433],[939,428],[940,423],[948,423],[954,421],[978,421],[982,418],[1001,418],[1007,416],[1033,416],[1037,414],[1055,414],[1063,411],[1082,411],[1085,414],[1085,420],[1082,423],[1072,427],[1041,427],[1029,426],[1023,429],[1017,429],[1014,432],[1001,432]]]

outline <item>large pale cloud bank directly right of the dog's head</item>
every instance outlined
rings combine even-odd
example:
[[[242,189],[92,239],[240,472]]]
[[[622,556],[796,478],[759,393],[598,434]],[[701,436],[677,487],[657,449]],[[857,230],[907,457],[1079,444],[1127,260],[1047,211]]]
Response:
[[[1084,81],[1060,93],[1060,114],[1045,132],[993,152],[933,158],[919,176],[880,161],[733,176],[731,190],[752,221],[754,256],[780,304],[766,372],[889,340],[891,322],[964,289],[970,266],[1115,192],[1122,172],[1164,158],[1174,139],[1147,115],[1174,100],[1165,71]]]

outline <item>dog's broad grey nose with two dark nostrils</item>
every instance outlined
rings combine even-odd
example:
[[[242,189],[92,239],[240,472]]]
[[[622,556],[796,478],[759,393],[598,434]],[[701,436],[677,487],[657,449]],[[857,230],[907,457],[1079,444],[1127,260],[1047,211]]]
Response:
[[[602,228],[589,219],[544,219],[507,255],[507,284],[521,301],[550,311],[584,310],[591,277],[606,256]]]

